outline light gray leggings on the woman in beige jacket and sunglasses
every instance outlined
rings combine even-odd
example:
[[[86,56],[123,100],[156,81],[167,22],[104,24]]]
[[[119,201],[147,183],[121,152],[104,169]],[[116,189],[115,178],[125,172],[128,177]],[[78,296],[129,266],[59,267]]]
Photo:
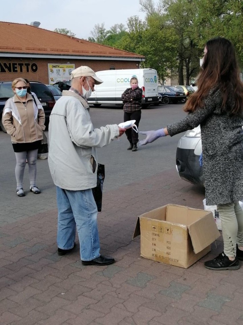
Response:
[[[24,170],[26,166],[26,159],[28,161],[28,166],[29,166],[30,186],[36,185],[35,181],[36,181],[37,152],[38,149],[15,152],[15,157],[16,157],[15,176],[17,181],[17,188],[23,187],[23,178],[24,178]]]

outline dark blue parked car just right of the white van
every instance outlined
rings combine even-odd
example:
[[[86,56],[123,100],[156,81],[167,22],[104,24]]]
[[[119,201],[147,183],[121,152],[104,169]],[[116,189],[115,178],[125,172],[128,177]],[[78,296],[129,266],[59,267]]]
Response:
[[[162,96],[162,103],[185,103],[186,95],[175,86],[158,86],[158,93]]]

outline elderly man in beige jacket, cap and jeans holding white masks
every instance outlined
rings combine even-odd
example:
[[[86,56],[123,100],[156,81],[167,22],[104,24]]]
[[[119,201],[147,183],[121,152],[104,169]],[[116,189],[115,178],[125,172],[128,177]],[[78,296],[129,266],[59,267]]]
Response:
[[[58,254],[75,247],[75,229],[83,265],[108,265],[111,257],[100,255],[97,206],[92,188],[97,185],[96,148],[107,146],[125,129],[117,124],[95,129],[87,98],[101,84],[95,72],[81,66],[71,73],[71,88],[56,102],[49,124],[48,163],[56,185],[58,207]]]

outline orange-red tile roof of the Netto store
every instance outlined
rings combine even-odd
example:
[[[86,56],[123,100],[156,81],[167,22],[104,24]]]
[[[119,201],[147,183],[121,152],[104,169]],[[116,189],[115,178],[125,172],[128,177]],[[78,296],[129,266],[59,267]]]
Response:
[[[144,59],[142,55],[27,24],[0,21],[0,31],[0,52],[2,53]]]

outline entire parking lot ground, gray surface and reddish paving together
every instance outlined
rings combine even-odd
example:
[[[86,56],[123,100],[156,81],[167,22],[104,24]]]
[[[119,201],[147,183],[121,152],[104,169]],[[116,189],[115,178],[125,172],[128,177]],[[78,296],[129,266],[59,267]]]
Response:
[[[90,115],[95,127],[123,121],[117,107],[90,105]],[[139,130],[158,129],[184,116],[181,104],[153,106],[142,110]],[[0,132],[1,324],[243,324],[243,267],[211,271],[203,266],[222,251],[222,238],[188,269],[140,257],[139,237],[132,240],[137,217],[156,207],[173,203],[203,209],[203,189],[181,180],[176,171],[180,136],[131,152],[123,135],[98,149],[99,162],[105,164],[98,213],[101,253],[116,260],[98,267],[81,265],[77,238],[73,253],[57,255],[55,187],[48,161],[38,160],[42,193],[27,193],[26,168],[27,195],[17,197],[10,136]]]

